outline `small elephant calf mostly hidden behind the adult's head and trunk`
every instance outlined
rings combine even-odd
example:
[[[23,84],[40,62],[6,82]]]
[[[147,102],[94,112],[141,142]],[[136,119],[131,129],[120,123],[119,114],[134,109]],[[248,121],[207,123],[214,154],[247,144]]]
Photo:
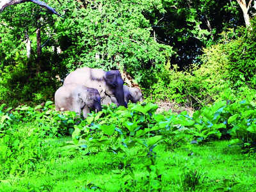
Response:
[[[143,95],[141,93],[141,90],[139,88],[135,87],[129,87],[124,85],[124,100],[126,103],[128,103],[130,100],[133,103],[136,103],[138,101],[142,102],[143,101]],[[102,105],[108,105],[111,104],[111,102],[117,104],[117,100],[115,97],[105,97],[102,101]]]

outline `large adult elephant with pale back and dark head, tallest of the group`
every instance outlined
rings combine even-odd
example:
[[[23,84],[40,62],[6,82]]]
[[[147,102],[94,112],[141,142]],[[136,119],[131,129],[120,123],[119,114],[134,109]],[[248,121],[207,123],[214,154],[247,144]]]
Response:
[[[124,81],[118,70],[106,72],[100,68],[77,68],[68,74],[63,85],[69,83],[95,88],[98,90],[101,100],[108,96],[115,97],[118,106],[127,108],[127,103],[124,100]]]

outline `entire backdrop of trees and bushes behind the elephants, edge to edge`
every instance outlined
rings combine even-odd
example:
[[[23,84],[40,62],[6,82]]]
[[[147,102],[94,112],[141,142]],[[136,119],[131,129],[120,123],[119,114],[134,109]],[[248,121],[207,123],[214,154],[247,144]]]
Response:
[[[0,15],[2,103],[49,100],[82,66],[125,70],[153,101],[201,107],[255,95],[255,21],[239,27],[236,1],[46,2],[63,17],[33,3]]]

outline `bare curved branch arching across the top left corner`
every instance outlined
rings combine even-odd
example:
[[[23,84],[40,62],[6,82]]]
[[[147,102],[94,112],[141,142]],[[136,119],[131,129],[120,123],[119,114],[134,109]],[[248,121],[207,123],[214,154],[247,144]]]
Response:
[[[50,12],[62,17],[58,12],[56,12],[56,10],[54,8],[52,8],[48,4],[44,3],[44,1],[39,1],[39,0],[2,0],[0,2],[0,12],[3,12],[3,10],[10,5],[25,3],[25,2],[32,2],[32,3],[38,4],[39,6],[46,8]]]

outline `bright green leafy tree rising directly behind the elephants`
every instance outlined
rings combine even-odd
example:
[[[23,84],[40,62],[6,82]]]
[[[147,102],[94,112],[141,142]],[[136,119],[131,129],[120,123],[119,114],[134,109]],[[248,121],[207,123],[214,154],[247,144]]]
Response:
[[[161,1],[106,0],[90,1],[86,8],[79,6],[76,1],[65,1],[61,6],[65,20],[56,19],[56,39],[63,42],[63,64],[68,70],[81,66],[125,68],[145,84],[145,74],[157,72],[172,55],[172,47],[152,38],[152,27],[143,15],[154,8],[161,10]]]

